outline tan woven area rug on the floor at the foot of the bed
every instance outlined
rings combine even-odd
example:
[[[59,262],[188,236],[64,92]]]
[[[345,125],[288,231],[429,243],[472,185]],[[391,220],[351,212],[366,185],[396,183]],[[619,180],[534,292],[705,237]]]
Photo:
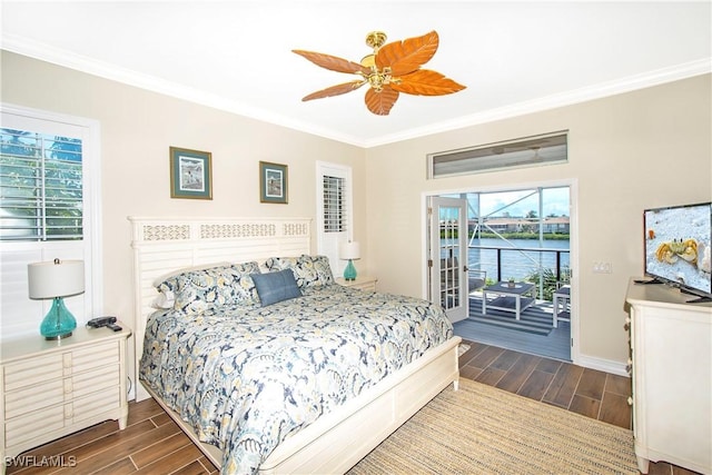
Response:
[[[631,431],[461,378],[348,473],[639,472]]]

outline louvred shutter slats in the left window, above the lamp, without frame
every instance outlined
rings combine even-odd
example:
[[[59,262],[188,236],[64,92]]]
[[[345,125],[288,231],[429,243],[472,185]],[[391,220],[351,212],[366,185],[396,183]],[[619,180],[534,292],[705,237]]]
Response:
[[[0,239],[82,238],[82,142],[0,129]]]

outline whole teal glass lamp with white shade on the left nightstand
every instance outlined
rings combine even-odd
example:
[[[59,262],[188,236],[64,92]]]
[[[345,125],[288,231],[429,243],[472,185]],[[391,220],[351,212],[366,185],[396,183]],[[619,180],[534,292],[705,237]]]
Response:
[[[52,263],[28,264],[27,274],[31,299],[53,299],[52,308],[40,325],[42,336],[46,339],[71,336],[77,320],[65,306],[63,298],[85,291],[83,260],[55,259]]]

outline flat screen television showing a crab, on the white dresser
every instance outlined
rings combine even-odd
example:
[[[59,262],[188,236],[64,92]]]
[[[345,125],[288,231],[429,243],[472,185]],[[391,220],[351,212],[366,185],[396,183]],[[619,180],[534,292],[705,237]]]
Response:
[[[709,301],[712,202],[651,208],[645,224],[645,275]]]

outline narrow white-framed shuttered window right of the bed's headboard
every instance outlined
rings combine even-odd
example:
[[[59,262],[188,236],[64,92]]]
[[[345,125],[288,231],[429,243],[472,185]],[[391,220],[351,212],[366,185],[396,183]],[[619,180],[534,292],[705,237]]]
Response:
[[[338,246],[353,240],[353,194],[350,167],[317,162],[317,251],[329,258],[334,276],[344,273]]]

